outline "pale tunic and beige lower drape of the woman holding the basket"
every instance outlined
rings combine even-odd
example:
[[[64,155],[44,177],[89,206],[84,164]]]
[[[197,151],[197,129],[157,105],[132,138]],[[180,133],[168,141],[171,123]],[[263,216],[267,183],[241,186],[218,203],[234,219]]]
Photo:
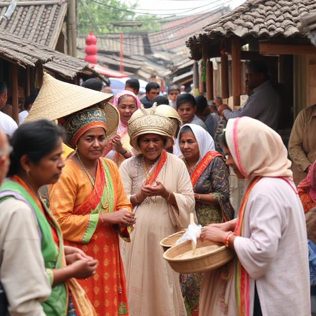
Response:
[[[294,184],[292,184],[294,186]],[[262,178],[253,187],[246,205],[244,237],[235,238],[237,257],[249,274],[250,315],[254,282],[263,316],[310,316],[310,279],[303,206],[282,179]],[[235,282],[227,285],[229,316],[236,316]],[[205,274],[201,316],[225,315],[220,310],[218,273]]]

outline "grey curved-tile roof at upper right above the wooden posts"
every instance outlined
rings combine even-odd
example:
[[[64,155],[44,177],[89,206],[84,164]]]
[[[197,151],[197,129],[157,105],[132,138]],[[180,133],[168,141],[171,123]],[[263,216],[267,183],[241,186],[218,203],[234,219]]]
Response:
[[[231,35],[294,37],[300,35],[297,27],[301,17],[309,12],[316,12],[316,0],[247,0],[190,37],[187,46],[192,49],[202,42]]]

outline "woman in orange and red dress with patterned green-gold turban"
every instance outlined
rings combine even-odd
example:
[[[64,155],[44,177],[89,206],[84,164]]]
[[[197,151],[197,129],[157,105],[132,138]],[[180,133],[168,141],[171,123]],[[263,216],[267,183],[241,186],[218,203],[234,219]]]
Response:
[[[129,240],[127,227],[133,225],[134,215],[118,167],[101,158],[106,131],[107,119],[98,106],[67,119],[67,141],[75,155],[66,160],[60,180],[50,188],[49,200],[65,244],[99,262],[95,277],[80,280],[97,314],[128,315],[118,235]]]

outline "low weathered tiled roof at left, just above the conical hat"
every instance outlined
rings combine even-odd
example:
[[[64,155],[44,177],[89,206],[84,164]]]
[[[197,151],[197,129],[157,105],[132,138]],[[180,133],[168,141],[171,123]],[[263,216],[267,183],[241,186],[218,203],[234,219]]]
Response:
[[[84,60],[60,53],[52,48],[0,31],[0,58],[12,60],[22,67],[43,65],[44,69],[73,79],[79,73],[99,76]]]

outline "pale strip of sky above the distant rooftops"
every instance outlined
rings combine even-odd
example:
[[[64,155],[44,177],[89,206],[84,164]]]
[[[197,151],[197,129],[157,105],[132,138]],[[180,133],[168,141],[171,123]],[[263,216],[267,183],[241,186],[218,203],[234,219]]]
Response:
[[[139,11],[143,13],[189,15],[204,12],[212,8],[216,9],[222,4],[236,7],[242,2],[245,2],[245,0],[138,0],[137,8],[146,9],[146,11]],[[190,10],[191,8],[197,9]]]

